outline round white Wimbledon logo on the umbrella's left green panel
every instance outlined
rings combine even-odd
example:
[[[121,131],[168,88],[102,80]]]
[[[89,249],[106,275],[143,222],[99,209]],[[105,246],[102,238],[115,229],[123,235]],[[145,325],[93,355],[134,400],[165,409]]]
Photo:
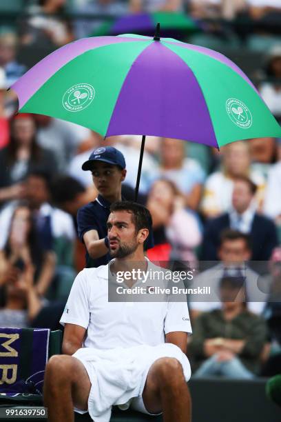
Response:
[[[63,94],[63,107],[70,112],[82,111],[90,106],[94,94],[94,87],[89,83],[76,83]]]

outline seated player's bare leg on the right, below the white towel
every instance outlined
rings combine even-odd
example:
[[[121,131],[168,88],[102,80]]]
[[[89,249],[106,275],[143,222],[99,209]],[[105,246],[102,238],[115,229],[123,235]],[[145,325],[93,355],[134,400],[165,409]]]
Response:
[[[190,422],[191,398],[182,365],[174,358],[154,362],[147,374],[143,403],[151,413],[163,411],[164,422]]]

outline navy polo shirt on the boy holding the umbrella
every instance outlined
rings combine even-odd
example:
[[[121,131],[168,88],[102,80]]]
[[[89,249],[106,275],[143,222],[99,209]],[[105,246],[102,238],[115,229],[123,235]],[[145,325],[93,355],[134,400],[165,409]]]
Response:
[[[111,203],[104,199],[101,194],[98,195],[95,201],[84,205],[77,213],[78,235],[79,239],[84,243],[83,236],[89,230],[96,230],[99,239],[104,239],[107,236],[107,219],[110,216]],[[147,239],[147,247],[145,249],[153,248],[153,234],[152,229],[149,230],[149,237]],[[88,252],[86,252],[86,268],[96,268],[100,265],[106,265],[110,259],[110,254],[107,253],[103,257],[92,259]]]

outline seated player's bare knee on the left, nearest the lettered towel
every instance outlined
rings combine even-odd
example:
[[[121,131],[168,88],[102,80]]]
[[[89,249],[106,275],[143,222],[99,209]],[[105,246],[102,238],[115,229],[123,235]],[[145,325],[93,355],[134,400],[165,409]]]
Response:
[[[73,370],[74,363],[72,356],[56,354],[50,358],[46,365],[45,377],[51,379],[53,385],[59,385],[59,383],[71,381]]]

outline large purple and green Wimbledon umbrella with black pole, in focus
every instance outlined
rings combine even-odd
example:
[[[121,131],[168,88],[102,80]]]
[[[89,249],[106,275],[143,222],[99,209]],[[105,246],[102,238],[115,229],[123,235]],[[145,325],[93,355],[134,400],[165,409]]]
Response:
[[[227,57],[176,39],[123,34],[67,44],[14,83],[19,111],[72,121],[103,137],[185,139],[219,148],[281,137],[247,76]]]

